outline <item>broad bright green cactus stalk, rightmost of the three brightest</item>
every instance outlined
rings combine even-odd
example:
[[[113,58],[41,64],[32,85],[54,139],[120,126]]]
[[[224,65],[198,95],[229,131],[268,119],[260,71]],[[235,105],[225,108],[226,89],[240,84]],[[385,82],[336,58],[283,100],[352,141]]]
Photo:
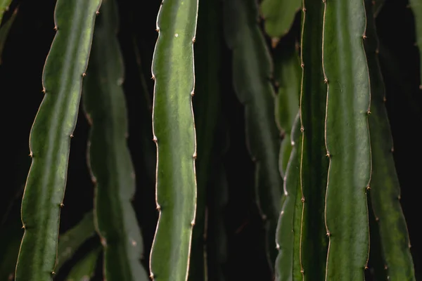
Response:
[[[364,280],[369,258],[371,89],[363,0],[324,0],[328,254],[326,280]]]

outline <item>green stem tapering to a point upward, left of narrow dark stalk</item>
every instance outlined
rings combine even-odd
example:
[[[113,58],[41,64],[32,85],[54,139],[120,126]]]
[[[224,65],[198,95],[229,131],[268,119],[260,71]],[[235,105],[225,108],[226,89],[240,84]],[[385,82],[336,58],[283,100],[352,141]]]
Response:
[[[283,203],[276,230],[276,247],[279,249],[275,263],[276,281],[302,280],[300,262],[300,223],[302,221],[302,202],[300,190],[300,115],[293,124],[289,145],[293,148],[284,178]]]

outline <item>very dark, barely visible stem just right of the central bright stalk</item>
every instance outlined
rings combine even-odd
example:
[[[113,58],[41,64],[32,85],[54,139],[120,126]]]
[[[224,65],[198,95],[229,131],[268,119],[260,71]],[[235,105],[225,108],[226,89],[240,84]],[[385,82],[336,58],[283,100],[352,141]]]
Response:
[[[198,11],[195,69],[196,96],[193,98],[198,143],[196,225],[193,228],[191,267],[188,280],[207,280],[205,260],[205,202],[210,181],[211,163],[215,154],[215,129],[220,107],[220,67],[222,5],[216,0],[204,0]]]

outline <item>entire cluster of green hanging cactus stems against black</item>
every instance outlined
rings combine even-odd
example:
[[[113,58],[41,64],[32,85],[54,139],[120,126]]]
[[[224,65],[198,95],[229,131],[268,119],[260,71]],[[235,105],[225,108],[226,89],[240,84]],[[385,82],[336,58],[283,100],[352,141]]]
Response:
[[[422,51],[422,1],[409,2]],[[10,4],[0,0],[0,22]],[[365,280],[370,241],[381,259],[377,280],[416,280],[378,62],[375,18],[382,5],[162,0],[151,67],[158,222],[147,253],[132,206],[136,183],[116,2],[57,0],[44,99],[30,132],[24,234],[9,278],[52,280],[98,235],[100,243],[67,280],[89,280],[100,258],[108,281],[226,280],[227,143],[226,131],[217,129],[221,29],[231,51],[232,86],[244,109],[253,197],[265,232],[251,243],[264,248],[275,280]],[[17,11],[0,27],[0,53]],[[298,13],[298,40],[281,44]],[[194,93],[204,98],[196,100]],[[91,126],[87,162],[94,209],[59,239],[81,98]],[[197,110],[202,115],[195,120]],[[146,266],[141,260],[148,257]]]

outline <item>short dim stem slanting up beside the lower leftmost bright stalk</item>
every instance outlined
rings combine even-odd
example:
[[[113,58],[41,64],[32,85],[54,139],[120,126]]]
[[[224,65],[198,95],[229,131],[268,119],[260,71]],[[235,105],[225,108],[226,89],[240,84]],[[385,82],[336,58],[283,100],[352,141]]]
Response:
[[[70,230],[58,236],[58,250],[56,260],[56,273],[63,264],[72,258],[77,249],[89,238],[96,234],[94,227],[94,214],[92,211],[85,214],[79,223]]]

